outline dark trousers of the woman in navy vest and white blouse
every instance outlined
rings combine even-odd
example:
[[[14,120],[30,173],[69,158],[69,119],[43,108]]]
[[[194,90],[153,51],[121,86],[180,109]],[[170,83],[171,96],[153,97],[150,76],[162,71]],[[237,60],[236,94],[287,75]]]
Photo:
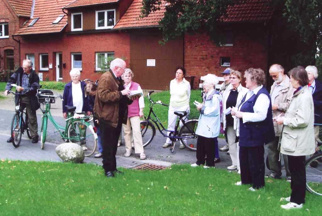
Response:
[[[259,189],[265,185],[264,146],[239,147],[242,184]]]

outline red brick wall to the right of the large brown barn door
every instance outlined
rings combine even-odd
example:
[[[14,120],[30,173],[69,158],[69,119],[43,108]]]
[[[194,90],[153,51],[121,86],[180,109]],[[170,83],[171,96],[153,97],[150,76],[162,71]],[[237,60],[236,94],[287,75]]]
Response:
[[[200,76],[213,73],[222,76],[227,67],[220,66],[220,57],[230,57],[231,66],[244,72],[250,67],[267,70],[266,31],[262,24],[232,26],[233,46],[216,46],[205,34],[185,35],[185,69],[187,76],[196,76],[194,88],[199,87]]]

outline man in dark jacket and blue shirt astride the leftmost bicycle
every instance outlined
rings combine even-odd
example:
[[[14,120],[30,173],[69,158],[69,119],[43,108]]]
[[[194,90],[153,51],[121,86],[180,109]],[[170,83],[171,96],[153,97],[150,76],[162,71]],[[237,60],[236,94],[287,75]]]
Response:
[[[8,91],[11,90],[11,84],[16,84],[16,92],[25,93],[20,95],[20,110],[26,108],[28,115],[28,123],[30,135],[33,138],[33,143],[38,142],[38,124],[36,110],[39,109],[40,104],[37,100],[36,93],[39,88],[39,76],[32,69],[32,62],[29,59],[24,59],[23,66],[19,67],[14,74],[10,77],[7,85],[5,86],[5,96],[8,95]],[[15,95],[14,101],[16,105],[19,105],[19,95]],[[7,142],[12,142],[10,137]]]

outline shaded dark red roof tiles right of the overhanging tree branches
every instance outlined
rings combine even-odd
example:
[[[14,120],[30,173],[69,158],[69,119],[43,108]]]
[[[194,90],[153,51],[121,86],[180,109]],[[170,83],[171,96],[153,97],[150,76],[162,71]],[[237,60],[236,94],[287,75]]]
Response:
[[[273,15],[272,0],[244,0],[240,4],[228,6],[227,15],[222,22],[263,22]]]

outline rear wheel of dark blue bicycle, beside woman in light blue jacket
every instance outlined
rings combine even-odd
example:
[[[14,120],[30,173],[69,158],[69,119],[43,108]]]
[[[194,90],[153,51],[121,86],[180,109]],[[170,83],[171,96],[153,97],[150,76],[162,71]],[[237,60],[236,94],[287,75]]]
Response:
[[[195,134],[197,127],[198,120],[193,119],[185,122],[185,125],[183,125],[179,131],[179,137],[186,137],[180,139],[181,143],[183,143],[185,147],[192,151],[197,150],[198,135]]]

